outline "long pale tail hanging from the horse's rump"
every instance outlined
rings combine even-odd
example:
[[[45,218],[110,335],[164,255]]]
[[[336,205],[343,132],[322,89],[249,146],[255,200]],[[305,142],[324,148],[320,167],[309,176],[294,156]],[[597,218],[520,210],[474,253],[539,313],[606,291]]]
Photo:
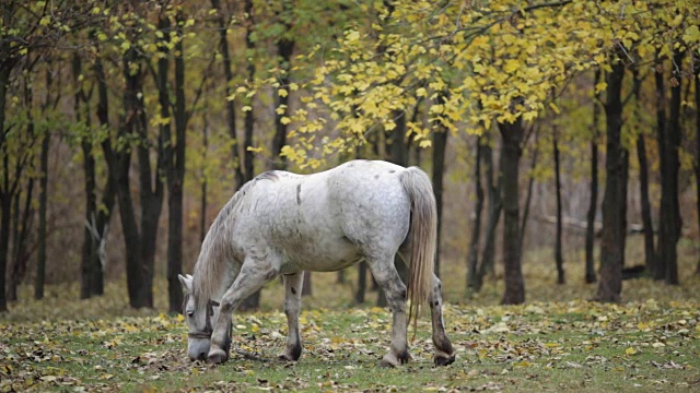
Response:
[[[438,207],[433,187],[420,168],[410,167],[400,175],[411,200],[411,260],[408,267],[408,298],[411,301],[408,321],[418,323],[420,306],[430,300],[438,245]],[[413,333],[415,334],[415,333]]]

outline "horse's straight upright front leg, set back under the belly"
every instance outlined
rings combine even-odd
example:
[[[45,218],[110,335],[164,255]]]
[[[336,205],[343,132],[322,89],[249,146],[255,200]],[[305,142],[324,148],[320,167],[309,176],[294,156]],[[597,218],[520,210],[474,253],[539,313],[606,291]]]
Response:
[[[288,274],[284,279],[284,313],[287,314],[287,348],[281,360],[299,360],[302,356],[302,338],[299,334],[299,312],[302,308],[304,272]]]

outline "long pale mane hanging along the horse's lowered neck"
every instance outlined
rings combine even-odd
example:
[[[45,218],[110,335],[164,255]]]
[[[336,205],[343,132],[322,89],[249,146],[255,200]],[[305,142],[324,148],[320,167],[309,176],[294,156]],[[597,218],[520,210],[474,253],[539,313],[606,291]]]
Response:
[[[217,215],[201,243],[201,251],[195,264],[192,283],[198,308],[205,307],[221,287],[221,279],[225,277],[226,263],[230,263],[233,258],[230,241],[234,223],[233,211],[254,184],[255,181],[243,184],[229,200]]]

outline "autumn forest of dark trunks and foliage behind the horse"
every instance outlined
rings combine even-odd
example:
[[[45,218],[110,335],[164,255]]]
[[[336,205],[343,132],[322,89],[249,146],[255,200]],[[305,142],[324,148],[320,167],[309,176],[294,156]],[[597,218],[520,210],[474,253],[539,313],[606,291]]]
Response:
[[[447,301],[486,283],[522,303],[523,264],[600,301],[625,299],[627,275],[697,285],[696,1],[0,11],[0,311],[126,281],[131,308],[179,312],[177,274],[237,188],[352,158],[431,175]],[[347,305],[370,301],[362,264],[316,276],[305,290],[350,283]]]

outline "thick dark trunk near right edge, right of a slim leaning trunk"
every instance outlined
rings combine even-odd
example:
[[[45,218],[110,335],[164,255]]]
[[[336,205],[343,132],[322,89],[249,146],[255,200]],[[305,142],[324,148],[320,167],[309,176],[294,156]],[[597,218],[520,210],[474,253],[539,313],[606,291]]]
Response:
[[[663,263],[663,277],[667,284],[677,285],[678,282],[678,255],[677,243],[680,238],[681,217],[678,202],[678,170],[680,167],[678,154],[680,150],[680,67],[682,52],[675,52],[673,64],[674,79],[670,87],[670,102],[668,107],[668,122],[662,135],[664,143],[665,165],[661,177],[661,209],[663,219],[658,227],[658,260]],[[661,155],[660,155],[661,156]],[[660,263],[660,264],[662,264]],[[661,266],[660,266],[661,267]],[[656,275],[660,276],[658,273]]]

